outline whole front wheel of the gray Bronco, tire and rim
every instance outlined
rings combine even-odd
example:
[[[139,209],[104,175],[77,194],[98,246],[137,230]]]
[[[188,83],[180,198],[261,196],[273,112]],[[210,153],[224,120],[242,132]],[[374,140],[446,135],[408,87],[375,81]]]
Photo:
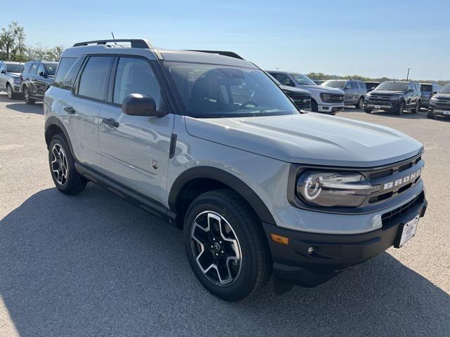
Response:
[[[243,300],[269,279],[265,240],[245,200],[230,190],[201,194],[184,219],[189,264],[200,283],[223,300]]]

